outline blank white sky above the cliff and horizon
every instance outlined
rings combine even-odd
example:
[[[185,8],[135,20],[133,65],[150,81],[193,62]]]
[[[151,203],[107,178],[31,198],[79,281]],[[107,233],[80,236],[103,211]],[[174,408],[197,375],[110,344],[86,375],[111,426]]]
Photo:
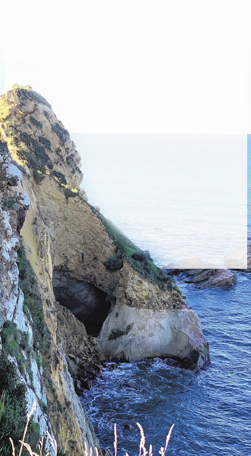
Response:
[[[246,133],[248,5],[5,2],[5,90],[30,84],[75,132]]]

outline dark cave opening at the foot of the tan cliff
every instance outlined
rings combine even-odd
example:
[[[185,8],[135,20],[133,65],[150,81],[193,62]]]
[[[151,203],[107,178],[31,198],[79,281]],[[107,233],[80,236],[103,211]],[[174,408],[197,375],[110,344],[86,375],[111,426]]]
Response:
[[[105,292],[88,282],[71,280],[59,271],[54,271],[52,285],[60,305],[84,323],[88,334],[97,336],[111,306]]]

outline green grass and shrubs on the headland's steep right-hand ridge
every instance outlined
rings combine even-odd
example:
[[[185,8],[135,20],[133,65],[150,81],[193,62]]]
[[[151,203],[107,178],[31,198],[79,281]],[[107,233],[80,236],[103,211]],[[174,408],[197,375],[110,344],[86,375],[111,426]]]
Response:
[[[113,239],[116,246],[115,255],[104,262],[107,269],[112,271],[121,269],[123,267],[123,259],[126,259],[135,271],[139,272],[145,279],[155,282],[161,290],[171,290],[174,287],[175,281],[173,278],[167,276],[162,269],[153,263],[148,250],[141,250],[110,220],[100,214],[99,210],[89,203],[87,205],[103,223],[106,232]]]

